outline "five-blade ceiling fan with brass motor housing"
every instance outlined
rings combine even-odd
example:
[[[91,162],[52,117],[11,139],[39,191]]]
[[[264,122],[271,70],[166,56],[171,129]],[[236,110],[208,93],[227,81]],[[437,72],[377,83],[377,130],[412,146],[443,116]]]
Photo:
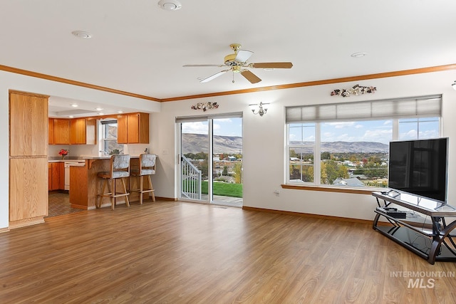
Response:
[[[222,65],[214,65],[214,64],[187,64],[184,65],[185,68],[195,68],[195,67],[207,67],[207,66],[217,66],[219,68],[222,67],[229,67],[227,70],[221,70],[214,75],[210,75],[207,78],[202,78],[200,83],[207,83],[208,81],[219,77],[220,75],[229,72],[232,70],[233,72],[233,83],[234,83],[234,73],[240,73],[244,76],[250,83],[259,83],[261,79],[252,73],[247,68],[265,68],[265,69],[274,69],[274,68],[291,68],[293,63],[291,62],[269,62],[269,63],[247,63],[250,56],[253,55],[254,52],[241,50],[241,45],[239,43],[232,43],[229,45],[234,54],[229,54],[224,58],[224,64]]]

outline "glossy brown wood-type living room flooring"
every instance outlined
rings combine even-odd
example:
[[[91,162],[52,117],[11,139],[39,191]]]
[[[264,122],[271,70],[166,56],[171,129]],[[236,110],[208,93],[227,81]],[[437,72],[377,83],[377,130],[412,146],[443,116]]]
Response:
[[[455,273],[369,224],[174,201],[0,234],[0,303],[456,303]]]

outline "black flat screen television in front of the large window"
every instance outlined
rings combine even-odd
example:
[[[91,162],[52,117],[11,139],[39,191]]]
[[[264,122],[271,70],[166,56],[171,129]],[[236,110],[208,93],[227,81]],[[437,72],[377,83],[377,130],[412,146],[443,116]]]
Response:
[[[388,188],[445,204],[448,138],[390,142]]]

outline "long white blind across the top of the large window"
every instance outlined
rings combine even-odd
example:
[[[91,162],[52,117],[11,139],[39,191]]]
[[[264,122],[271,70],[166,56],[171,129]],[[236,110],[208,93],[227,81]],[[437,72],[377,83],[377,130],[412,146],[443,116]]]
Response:
[[[370,120],[442,114],[442,95],[286,108],[286,122]]]

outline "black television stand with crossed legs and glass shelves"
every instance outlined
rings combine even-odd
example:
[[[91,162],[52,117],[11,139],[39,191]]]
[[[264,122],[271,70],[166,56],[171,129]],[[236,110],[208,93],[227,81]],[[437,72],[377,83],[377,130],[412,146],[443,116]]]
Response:
[[[455,262],[456,234],[452,234],[456,228],[455,207],[413,194],[397,193],[372,192],[378,204],[374,210],[373,229],[431,264]],[[398,206],[397,210],[394,210],[395,206]],[[386,222],[379,224],[380,218]]]

